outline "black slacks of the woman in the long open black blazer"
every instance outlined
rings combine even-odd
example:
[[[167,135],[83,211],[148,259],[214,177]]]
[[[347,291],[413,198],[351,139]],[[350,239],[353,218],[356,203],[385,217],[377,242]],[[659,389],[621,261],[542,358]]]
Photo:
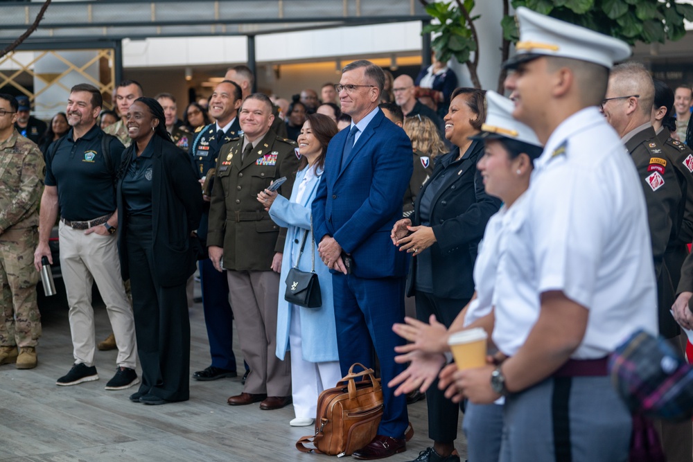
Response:
[[[142,366],[139,391],[166,401],[190,397],[190,319],[185,284],[161,287],[155,276],[150,218],[128,217],[132,309]]]

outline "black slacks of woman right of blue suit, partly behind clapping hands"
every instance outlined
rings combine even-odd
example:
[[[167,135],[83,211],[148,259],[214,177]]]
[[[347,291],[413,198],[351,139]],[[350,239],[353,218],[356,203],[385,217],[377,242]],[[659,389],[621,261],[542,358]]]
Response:
[[[415,293],[416,318],[428,323],[431,314],[435,314],[440,323],[450,327],[457,314],[469,303],[469,299],[439,299],[429,292]],[[457,416],[459,406],[444,396],[445,391],[438,389],[438,379],[428,387],[428,438],[441,443],[451,443],[457,438]]]

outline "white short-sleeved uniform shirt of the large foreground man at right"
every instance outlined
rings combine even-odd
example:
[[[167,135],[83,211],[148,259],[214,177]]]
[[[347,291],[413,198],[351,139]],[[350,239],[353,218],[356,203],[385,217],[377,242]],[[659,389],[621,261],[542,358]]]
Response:
[[[604,357],[634,330],[657,332],[657,288],[647,209],[632,159],[596,107],[563,121],[535,162],[525,216],[507,233],[507,274],[497,285],[559,290],[590,310],[575,359]],[[515,208],[515,207],[513,207]],[[521,265],[525,260],[525,264]],[[508,294],[511,295],[511,294]],[[502,297],[499,294],[499,299]],[[513,305],[508,305],[513,310]],[[498,325],[503,353],[529,330]],[[538,310],[537,310],[538,314]]]

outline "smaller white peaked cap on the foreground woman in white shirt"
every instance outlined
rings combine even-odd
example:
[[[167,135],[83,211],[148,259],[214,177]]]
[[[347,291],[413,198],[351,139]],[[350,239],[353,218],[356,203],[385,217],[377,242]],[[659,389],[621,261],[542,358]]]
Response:
[[[513,102],[505,96],[486,91],[486,121],[481,126],[481,133],[471,138],[507,138],[541,147],[534,130],[513,118],[514,109]]]

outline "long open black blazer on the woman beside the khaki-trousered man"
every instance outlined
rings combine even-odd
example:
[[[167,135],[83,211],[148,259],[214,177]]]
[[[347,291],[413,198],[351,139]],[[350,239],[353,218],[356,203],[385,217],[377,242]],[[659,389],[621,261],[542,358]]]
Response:
[[[202,215],[202,188],[188,154],[160,136],[152,136],[152,247],[154,280],[162,287],[186,283],[195,272],[191,231],[198,228]],[[121,274],[128,280],[128,249],[125,236],[128,220],[123,203],[123,175],[128,171],[135,143],[123,152],[116,200],[118,202],[118,250]]]

